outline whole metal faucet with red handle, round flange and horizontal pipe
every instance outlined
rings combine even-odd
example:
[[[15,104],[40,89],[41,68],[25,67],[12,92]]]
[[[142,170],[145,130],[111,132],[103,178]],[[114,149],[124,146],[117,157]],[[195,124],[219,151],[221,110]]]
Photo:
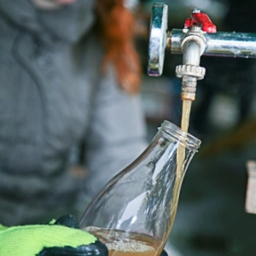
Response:
[[[194,9],[183,29],[167,31],[168,6],[154,3],[152,7],[148,44],[148,75],[160,76],[163,70],[165,50],[183,54],[183,64],[176,67],[176,75],[182,79],[183,100],[195,100],[196,84],[206,73],[200,67],[201,55],[225,57],[256,57],[256,34],[244,32],[217,32],[209,17]]]

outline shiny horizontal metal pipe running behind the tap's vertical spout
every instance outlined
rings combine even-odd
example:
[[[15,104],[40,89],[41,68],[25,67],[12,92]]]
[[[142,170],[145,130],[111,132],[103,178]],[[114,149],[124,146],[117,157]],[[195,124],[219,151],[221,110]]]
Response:
[[[169,33],[172,54],[183,54],[181,44],[185,35],[182,29],[172,29]],[[207,45],[203,55],[256,58],[256,33],[216,32],[204,36]]]

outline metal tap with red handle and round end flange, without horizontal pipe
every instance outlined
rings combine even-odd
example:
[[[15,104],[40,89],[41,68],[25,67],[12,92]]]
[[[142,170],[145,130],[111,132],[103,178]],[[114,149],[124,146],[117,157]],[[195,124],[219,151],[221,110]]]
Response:
[[[176,67],[176,75],[182,79],[183,100],[195,100],[196,83],[203,79],[206,73],[200,67],[200,58],[207,48],[206,33],[215,33],[216,26],[206,14],[194,9],[191,17],[185,21],[182,34],[173,38],[173,33],[167,33],[167,5],[154,3],[151,15],[151,30],[148,44],[148,75],[160,76],[163,69],[165,49],[169,48],[183,53],[183,64]],[[168,34],[168,35],[167,35]],[[173,40],[173,39],[174,40]]]

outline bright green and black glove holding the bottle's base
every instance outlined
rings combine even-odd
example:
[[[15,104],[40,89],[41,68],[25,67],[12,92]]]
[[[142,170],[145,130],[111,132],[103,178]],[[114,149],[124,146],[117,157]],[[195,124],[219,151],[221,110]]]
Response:
[[[0,255],[108,256],[106,245],[78,228],[78,222],[70,215],[59,218],[54,224],[0,225]]]

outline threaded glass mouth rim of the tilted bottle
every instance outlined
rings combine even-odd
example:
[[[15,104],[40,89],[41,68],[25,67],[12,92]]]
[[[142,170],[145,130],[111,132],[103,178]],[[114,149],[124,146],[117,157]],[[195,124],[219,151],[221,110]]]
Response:
[[[201,145],[201,140],[191,135],[189,132],[182,131],[177,125],[165,120],[159,130],[165,131],[169,136],[180,142],[185,148],[197,151]]]

